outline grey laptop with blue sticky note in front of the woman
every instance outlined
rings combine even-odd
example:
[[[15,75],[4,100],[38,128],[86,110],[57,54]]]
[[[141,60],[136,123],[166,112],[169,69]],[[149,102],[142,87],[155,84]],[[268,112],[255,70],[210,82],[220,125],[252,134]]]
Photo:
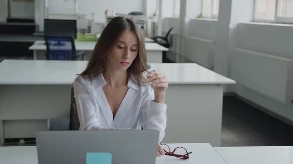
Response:
[[[112,153],[112,164],[155,164],[158,138],[157,130],[40,131],[38,161],[86,164],[86,153],[103,152]]]

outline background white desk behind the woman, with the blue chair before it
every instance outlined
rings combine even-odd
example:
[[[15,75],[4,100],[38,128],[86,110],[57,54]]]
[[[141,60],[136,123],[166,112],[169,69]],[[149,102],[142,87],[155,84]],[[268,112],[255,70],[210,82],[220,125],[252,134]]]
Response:
[[[45,59],[45,50],[46,45],[45,41],[35,41],[32,46],[28,49],[34,51],[34,60],[44,60]],[[87,59],[92,54],[94,46],[96,45],[95,41],[76,41],[75,49],[77,51],[86,51]],[[168,48],[165,48],[154,42],[146,42],[146,51],[147,51],[147,62],[148,63],[162,63],[163,51],[168,51]]]

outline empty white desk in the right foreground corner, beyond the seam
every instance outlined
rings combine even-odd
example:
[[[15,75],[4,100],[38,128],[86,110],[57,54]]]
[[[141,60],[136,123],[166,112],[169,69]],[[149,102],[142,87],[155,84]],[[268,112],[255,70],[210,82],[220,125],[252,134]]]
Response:
[[[293,146],[215,147],[228,164],[293,164]]]

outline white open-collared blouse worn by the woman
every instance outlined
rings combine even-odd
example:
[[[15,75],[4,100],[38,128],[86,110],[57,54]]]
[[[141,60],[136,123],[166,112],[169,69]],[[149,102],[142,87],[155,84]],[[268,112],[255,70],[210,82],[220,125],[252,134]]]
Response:
[[[101,74],[94,80],[78,78],[73,82],[79,118],[79,130],[156,129],[159,142],[165,135],[167,105],[153,101],[151,86],[140,86],[128,81],[128,91],[113,119],[113,113],[102,87],[106,84]]]

